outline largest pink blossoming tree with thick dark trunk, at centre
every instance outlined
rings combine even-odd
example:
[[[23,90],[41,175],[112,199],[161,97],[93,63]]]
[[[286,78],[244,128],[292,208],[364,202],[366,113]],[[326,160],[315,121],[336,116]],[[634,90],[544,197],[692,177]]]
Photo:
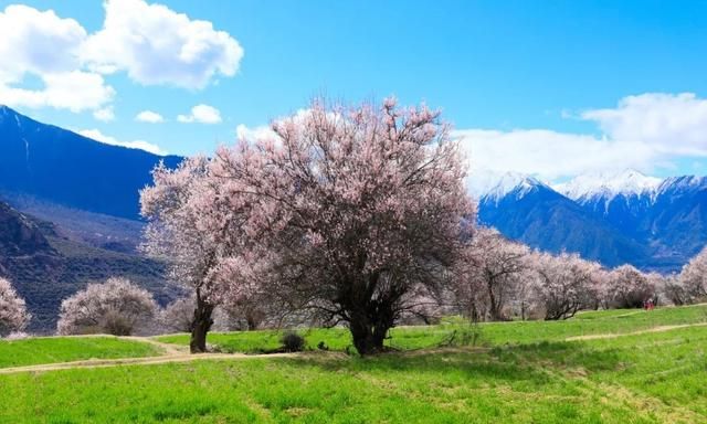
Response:
[[[219,301],[266,293],[345,322],[361,354],[381,351],[413,299],[445,280],[474,219],[458,145],[439,117],[393,100],[314,102],[271,136],[219,149],[205,172],[158,169],[143,193],[159,241],[149,244],[196,240],[191,253],[167,252],[189,257],[178,258],[188,268],[212,257],[193,280]],[[188,187],[183,195],[172,178],[199,181],[172,184]],[[179,234],[192,229],[199,234]]]

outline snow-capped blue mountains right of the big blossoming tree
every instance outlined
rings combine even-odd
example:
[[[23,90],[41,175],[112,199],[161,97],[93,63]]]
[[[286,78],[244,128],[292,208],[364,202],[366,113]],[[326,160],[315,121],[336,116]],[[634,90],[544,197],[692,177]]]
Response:
[[[532,247],[667,273],[707,244],[705,177],[625,170],[555,187],[518,173],[479,179],[488,181],[476,187],[479,222]]]

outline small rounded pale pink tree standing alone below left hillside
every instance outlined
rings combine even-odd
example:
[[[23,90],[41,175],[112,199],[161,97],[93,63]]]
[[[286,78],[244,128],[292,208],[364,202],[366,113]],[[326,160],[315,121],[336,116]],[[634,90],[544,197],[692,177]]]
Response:
[[[56,330],[60,335],[129,336],[149,324],[156,310],[149,292],[127,278],[113,277],[64,299]]]

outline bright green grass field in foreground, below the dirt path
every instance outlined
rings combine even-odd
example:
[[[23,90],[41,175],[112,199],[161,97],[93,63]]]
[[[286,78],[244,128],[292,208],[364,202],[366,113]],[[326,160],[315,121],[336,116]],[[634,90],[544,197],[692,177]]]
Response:
[[[13,373],[0,375],[0,422],[707,423],[707,327],[665,328],[705,321],[705,306],[585,312],[482,325],[479,347],[435,349],[465,328],[452,324],[399,328],[391,346],[424,349],[374,358],[315,350]],[[339,330],[304,333],[309,346],[349,343]],[[590,335],[623,336],[566,341]],[[210,342],[254,352],[277,339],[258,331]]]

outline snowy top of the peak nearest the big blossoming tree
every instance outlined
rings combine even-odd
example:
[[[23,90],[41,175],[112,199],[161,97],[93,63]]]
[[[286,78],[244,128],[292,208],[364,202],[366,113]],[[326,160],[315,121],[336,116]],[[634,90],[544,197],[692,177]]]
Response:
[[[519,172],[473,171],[467,180],[468,191],[474,199],[498,201],[506,194],[516,192],[518,198],[536,187],[545,186],[535,177]]]

